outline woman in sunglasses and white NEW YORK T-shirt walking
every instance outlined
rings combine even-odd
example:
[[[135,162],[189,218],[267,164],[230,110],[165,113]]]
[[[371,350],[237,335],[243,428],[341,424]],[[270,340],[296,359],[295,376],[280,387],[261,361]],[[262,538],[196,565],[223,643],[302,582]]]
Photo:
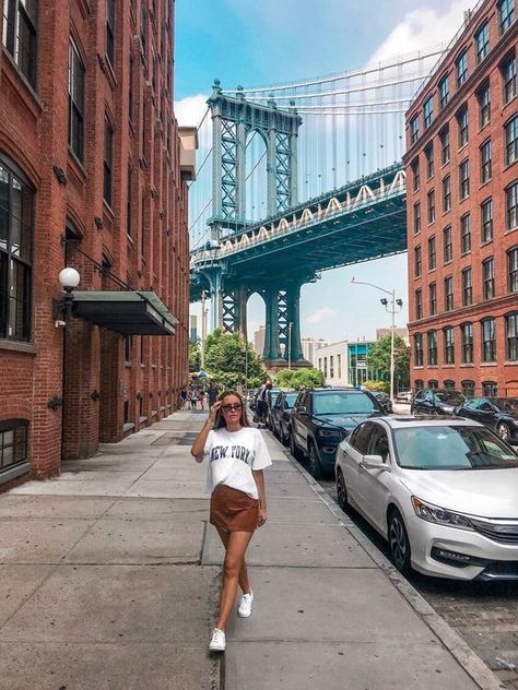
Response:
[[[248,423],[242,396],[234,391],[222,393],[211,406],[190,452],[197,462],[209,460],[210,521],[225,547],[220,614],[209,644],[212,652],[224,652],[238,584],[243,595],[237,614],[242,618],[251,615],[254,594],[245,552],[256,527],[267,521],[262,471],[272,461],[261,432]]]

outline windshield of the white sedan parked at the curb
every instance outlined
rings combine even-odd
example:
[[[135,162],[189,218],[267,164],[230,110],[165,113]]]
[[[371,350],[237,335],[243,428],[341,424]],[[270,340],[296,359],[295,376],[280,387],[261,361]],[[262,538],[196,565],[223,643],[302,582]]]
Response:
[[[483,427],[412,426],[396,429],[395,443],[405,469],[518,467],[515,451]]]

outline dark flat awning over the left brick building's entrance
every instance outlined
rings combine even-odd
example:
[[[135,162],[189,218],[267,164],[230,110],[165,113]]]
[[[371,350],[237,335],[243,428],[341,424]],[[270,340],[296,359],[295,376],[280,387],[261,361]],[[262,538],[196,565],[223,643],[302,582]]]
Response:
[[[122,335],[174,335],[178,319],[155,293],[74,290],[72,313]]]

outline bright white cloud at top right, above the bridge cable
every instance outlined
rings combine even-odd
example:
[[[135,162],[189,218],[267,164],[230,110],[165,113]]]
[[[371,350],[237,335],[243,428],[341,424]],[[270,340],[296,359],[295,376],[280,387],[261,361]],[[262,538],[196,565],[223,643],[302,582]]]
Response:
[[[435,8],[412,10],[395,26],[368,62],[448,43],[462,25],[464,12],[474,3],[475,0],[452,0],[443,12]]]

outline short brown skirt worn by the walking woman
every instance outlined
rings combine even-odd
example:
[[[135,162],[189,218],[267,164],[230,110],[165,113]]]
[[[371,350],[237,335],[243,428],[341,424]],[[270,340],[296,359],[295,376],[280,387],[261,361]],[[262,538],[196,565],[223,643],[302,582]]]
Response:
[[[244,491],[220,484],[212,491],[210,522],[222,532],[254,532],[259,501]]]

